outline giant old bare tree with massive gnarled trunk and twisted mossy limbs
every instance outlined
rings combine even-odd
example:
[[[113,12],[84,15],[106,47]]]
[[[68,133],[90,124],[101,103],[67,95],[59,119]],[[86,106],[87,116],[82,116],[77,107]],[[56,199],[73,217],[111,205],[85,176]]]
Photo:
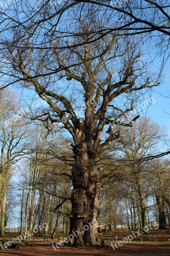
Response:
[[[80,34],[74,40],[85,42],[96,23],[103,26],[107,19],[103,17],[101,20],[100,12],[84,11],[82,20],[79,9],[77,11],[74,30]],[[55,24],[55,18],[53,22]],[[119,140],[121,126],[132,126],[139,117],[136,114],[121,121],[133,110],[140,91],[156,86],[158,82],[153,76],[147,76],[138,44],[133,39],[129,41],[109,35],[94,44],[73,49],[69,47],[71,39],[66,35],[62,40],[49,41],[51,49],[39,50],[35,44],[41,40],[42,32],[38,37],[25,37],[22,42],[20,33],[22,28],[14,29],[11,46],[4,51],[8,74],[10,80],[14,78],[13,82],[25,81],[23,87],[33,89],[48,104],[48,108],[40,109],[34,119],[40,119],[48,126],[63,127],[70,134],[73,152],[70,232],[83,231],[84,224],[96,220],[99,208],[98,172],[102,153],[113,141]],[[53,32],[50,33],[50,37],[53,36]],[[47,40],[50,37],[47,35]],[[27,49],[26,46],[33,42],[35,48]],[[67,48],[59,51],[57,48],[61,44]],[[75,65],[77,61],[79,66]],[[53,72],[56,67],[61,71]],[[40,73],[42,78],[37,79]],[[74,243],[94,245],[97,239],[93,225],[83,237],[75,238]]]

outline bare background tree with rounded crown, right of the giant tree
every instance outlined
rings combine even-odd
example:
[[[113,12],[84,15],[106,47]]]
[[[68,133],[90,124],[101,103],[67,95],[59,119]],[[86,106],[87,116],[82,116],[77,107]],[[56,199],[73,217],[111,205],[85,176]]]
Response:
[[[150,118],[141,118],[131,129],[126,128],[121,138],[122,151],[128,160],[136,160],[145,157],[150,150],[156,147],[157,143],[163,140],[165,131]],[[128,162],[127,162],[128,163]],[[129,164],[129,163],[128,163]],[[138,192],[141,208],[142,227],[147,227],[147,191],[144,192],[147,182],[147,162],[134,162],[130,166],[130,182],[133,190]],[[132,202],[134,202],[134,198]],[[134,209],[134,207],[133,207]],[[135,214],[134,214],[135,218]],[[144,233],[147,233],[144,231]]]

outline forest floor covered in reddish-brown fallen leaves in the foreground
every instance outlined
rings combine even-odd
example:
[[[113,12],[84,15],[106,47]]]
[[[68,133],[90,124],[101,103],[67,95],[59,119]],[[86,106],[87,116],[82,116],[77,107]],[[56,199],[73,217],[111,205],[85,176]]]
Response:
[[[130,233],[129,233],[130,234]],[[152,236],[169,236],[168,231],[154,231]],[[116,236],[117,234],[115,234]],[[126,234],[124,234],[126,237]],[[5,241],[11,238],[6,238]],[[1,239],[2,240],[2,239]],[[170,256],[170,242],[166,241],[132,241],[118,246],[115,250],[110,246],[105,247],[59,247],[54,250],[49,239],[44,243],[43,239],[35,238],[32,246],[21,247],[20,249],[0,250],[0,256]]]

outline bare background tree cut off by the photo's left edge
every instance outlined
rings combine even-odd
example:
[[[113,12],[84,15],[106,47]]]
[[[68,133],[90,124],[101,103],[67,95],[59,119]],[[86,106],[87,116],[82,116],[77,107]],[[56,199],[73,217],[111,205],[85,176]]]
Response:
[[[18,102],[9,90],[0,94],[0,236],[6,226],[7,187],[14,166],[28,151],[29,130],[25,119],[14,113]]]

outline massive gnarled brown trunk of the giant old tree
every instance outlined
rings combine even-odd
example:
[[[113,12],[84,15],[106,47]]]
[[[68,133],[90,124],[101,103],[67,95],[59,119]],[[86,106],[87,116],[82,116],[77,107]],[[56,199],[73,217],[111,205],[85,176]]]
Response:
[[[74,166],[72,168],[73,190],[71,193],[70,232],[74,235],[74,245],[96,245],[98,232],[96,216],[99,209],[97,197],[97,170],[94,168],[96,154],[90,151],[85,142],[84,120],[78,119],[79,130],[74,138]],[[82,216],[83,215],[83,216]],[[76,234],[75,233],[75,234]]]

